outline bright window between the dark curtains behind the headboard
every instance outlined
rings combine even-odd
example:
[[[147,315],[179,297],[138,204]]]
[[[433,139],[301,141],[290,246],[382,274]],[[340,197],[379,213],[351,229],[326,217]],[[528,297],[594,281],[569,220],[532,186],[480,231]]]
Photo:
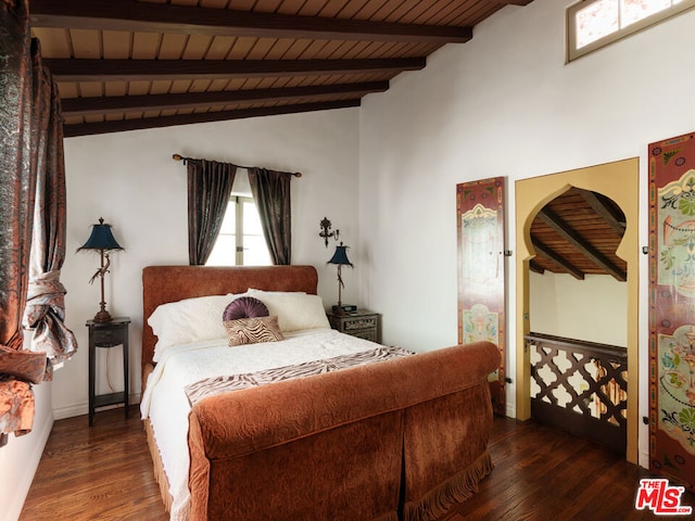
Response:
[[[253,199],[232,195],[227,203],[219,236],[205,265],[269,266],[271,264]]]

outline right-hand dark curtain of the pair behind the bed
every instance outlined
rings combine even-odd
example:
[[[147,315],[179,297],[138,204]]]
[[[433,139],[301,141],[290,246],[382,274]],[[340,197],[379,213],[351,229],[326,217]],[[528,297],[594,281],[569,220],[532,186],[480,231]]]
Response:
[[[258,208],[265,242],[276,265],[291,264],[291,180],[292,175],[285,171],[249,168],[251,193]]]

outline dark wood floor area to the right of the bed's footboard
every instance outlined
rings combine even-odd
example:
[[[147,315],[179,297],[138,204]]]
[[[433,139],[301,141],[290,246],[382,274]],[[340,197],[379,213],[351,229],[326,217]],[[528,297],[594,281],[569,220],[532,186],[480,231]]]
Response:
[[[440,521],[662,519],[634,508],[640,479],[648,472],[592,442],[534,422],[495,418],[490,449],[492,474],[476,496]],[[695,506],[695,496],[686,494],[682,505]]]

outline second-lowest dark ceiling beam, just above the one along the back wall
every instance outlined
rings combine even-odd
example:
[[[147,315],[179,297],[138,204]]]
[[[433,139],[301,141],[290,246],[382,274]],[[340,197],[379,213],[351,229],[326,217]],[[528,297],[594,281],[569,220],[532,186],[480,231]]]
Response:
[[[178,94],[144,94],[93,98],[64,98],[63,116],[88,116],[124,112],[167,111],[172,109],[197,109],[225,106],[233,103],[278,102],[296,98],[351,94],[362,98],[369,92],[384,92],[388,81],[362,84],[319,85],[282,89],[249,89],[215,92],[187,92]]]

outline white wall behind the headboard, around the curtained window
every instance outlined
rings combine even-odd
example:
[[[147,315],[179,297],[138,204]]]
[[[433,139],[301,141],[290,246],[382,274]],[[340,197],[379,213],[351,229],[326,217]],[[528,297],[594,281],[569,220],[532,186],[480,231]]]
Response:
[[[55,373],[55,417],[87,412],[85,321],[99,309],[99,285],[88,283],[99,257],[75,251],[89,237],[91,224],[103,217],[126,249],[112,255],[105,301],[112,316],[132,320],[130,393],[137,398],[141,270],[154,264],[188,264],[186,167],[172,155],[301,171],[303,177],[292,180],[292,262],[318,268],[319,293],[328,307],[338,300],[334,267],[326,265],[334,243],[325,247],[319,221],[328,217],[341,239],[357,246],[357,136],[358,110],[348,109],[66,139],[67,258],[62,281],[67,289],[66,321],[79,351]],[[356,301],[361,257],[359,249],[353,247],[355,269],[344,271],[345,302]],[[122,389],[121,350],[109,352],[112,382]],[[104,357],[99,360],[98,379],[105,382]],[[99,392],[108,392],[105,384]]]

